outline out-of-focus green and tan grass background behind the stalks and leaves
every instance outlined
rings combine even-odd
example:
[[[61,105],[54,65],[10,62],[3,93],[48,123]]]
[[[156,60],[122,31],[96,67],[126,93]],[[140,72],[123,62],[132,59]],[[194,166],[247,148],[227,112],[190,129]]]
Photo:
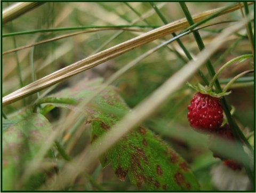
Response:
[[[14,2],[3,2],[2,7],[5,9],[12,4]],[[156,2],[155,4],[167,22],[185,17],[179,3]],[[227,6],[230,3],[189,2],[186,4],[191,14],[197,14]],[[249,8],[253,12],[253,6],[249,6]],[[208,24],[236,21],[241,20],[241,18],[241,11],[237,10],[212,19]],[[133,22],[136,20],[138,21]],[[136,29],[137,31],[102,30],[79,34],[2,55],[2,95],[10,94],[36,79],[49,75],[94,53],[127,41],[157,26],[163,26],[164,23],[147,2],[49,2],[36,7],[36,9],[2,26],[3,34],[33,31],[36,29],[67,28],[67,30],[63,31],[50,31],[47,33],[33,33],[2,38],[2,52],[5,52],[24,45],[83,30],[71,30],[70,28],[72,27],[107,27],[118,25],[131,25],[134,26],[132,29]],[[204,44],[209,44],[214,37],[218,36],[222,29],[231,25],[233,25],[233,22],[222,23],[199,30]],[[141,28],[137,26],[147,27]],[[171,37],[171,35],[166,36],[161,41]],[[138,47],[113,60],[75,75],[61,82],[52,92],[75,85],[84,77],[88,77],[89,79],[103,77],[107,79],[111,74],[124,67],[130,61],[158,45],[159,41],[157,40]],[[192,56],[199,53],[198,46],[192,34],[182,37],[181,41]],[[246,29],[244,28],[230,36],[226,43],[222,45],[221,49],[212,55],[210,60],[214,64],[215,71],[217,71],[227,61],[251,52],[250,42],[247,38]],[[137,63],[134,68],[118,78],[114,85],[125,102],[133,108],[157,89],[157,87],[162,85],[175,71],[185,65],[187,61],[188,59],[180,46],[177,42],[174,42],[170,47],[163,47]],[[223,83],[222,85],[225,86],[228,78],[234,77],[245,70],[253,69],[253,65],[253,60],[246,60],[239,65],[231,65],[220,75],[220,83]],[[35,74],[33,69],[35,70]],[[207,68],[203,66],[201,70],[210,81],[211,78],[207,73]],[[226,97],[229,106],[232,105],[235,107],[234,116],[245,135],[254,129],[254,76],[252,74],[246,76],[248,79],[241,78],[240,83],[238,82],[234,87],[230,88],[232,94]],[[202,79],[195,74],[189,82],[193,84],[202,83]],[[39,95],[42,93],[44,91],[39,92]],[[218,164],[218,159],[212,157],[207,147],[199,148],[193,142],[173,138],[169,132],[169,129],[172,127],[189,128],[187,106],[194,93],[187,85],[184,85],[179,91],[175,92],[174,97],[170,101],[167,101],[163,107],[156,111],[153,117],[150,117],[143,124],[160,135],[191,164],[199,183],[201,183],[202,190],[216,190],[217,188],[211,179],[210,170],[212,165]],[[28,107],[36,98],[37,95],[33,94],[23,100],[3,107],[3,111],[7,117],[12,118],[13,113],[18,112],[24,107]],[[47,118],[51,120],[54,126],[58,125],[61,117],[65,118],[66,114],[67,109],[54,109],[51,114],[47,115]],[[75,134],[74,140],[65,146],[66,151],[71,157],[79,154],[84,149],[84,146],[90,143],[90,128],[84,129],[84,127],[83,122],[81,122],[81,125],[76,128],[79,134]],[[65,136],[65,134],[61,134],[60,140],[62,136]],[[136,190],[131,186],[127,178],[124,183],[120,182],[114,172],[111,171],[111,166],[101,170],[99,163],[95,163],[95,167],[91,168],[89,173],[105,190]],[[74,187],[70,187],[69,190],[97,190],[97,188],[86,178],[81,177],[77,179]]]

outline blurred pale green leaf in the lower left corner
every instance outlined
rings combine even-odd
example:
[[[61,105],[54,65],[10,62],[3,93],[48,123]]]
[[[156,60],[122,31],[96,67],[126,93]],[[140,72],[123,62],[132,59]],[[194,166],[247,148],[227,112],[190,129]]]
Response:
[[[43,115],[32,114],[20,120],[5,119],[3,125],[3,190],[16,190],[20,187],[34,190],[44,182],[45,172],[36,172],[25,184],[20,184],[20,178],[26,164],[36,159],[39,148],[47,142],[52,131],[51,124]],[[44,163],[53,166],[47,160],[50,157],[46,155]]]

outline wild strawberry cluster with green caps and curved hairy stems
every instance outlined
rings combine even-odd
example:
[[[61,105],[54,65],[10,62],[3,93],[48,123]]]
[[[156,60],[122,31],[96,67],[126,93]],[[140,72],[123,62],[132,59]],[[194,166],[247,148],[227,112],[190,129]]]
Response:
[[[201,84],[198,84],[198,86],[193,86],[188,83],[189,86],[193,87],[196,91],[199,91],[195,94],[194,98],[191,100],[191,104],[188,106],[188,120],[190,122],[190,126],[195,128],[196,131],[204,132],[206,134],[212,134],[213,136],[210,138],[210,149],[213,149],[213,157],[218,157],[221,160],[223,160],[223,164],[232,168],[233,170],[241,169],[242,163],[244,160],[237,160],[230,159],[226,155],[219,156],[214,152],[214,146],[216,143],[219,142],[219,138],[222,138],[224,140],[231,141],[233,145],[235,146],[235,138],[234,134],[235,131],[232,131],[230,129],[229,123],[222,123],[223,122],[223,110],[222,110],[222,104],[219,101],[219,98],[222,98],[224,95],[228,95],[231,93],[226,92],[228,89],[228,86],[234,82],[236,78],[238,78],[241,75],[237,75],[234,77],[223,89],[222,93],[214,93],[212,92],[212,86],[214,81],[216,81],[217,77],[220,75],[220,73],[227,68],[231,63],[237,61],[237,60],[243,60],[247,57],[252,57],[252,55],[242,55],[241,57],[237,57],[229,62],[227,62],[225,65],[223,65],[212,78],[212,81],[210,82],[209,87],[203,87]],[[223,126],[221,126],[223,125]],[[241,138],[244,139],[243,133],[241,133],[241,136],[237,136],[237,143],[238,146],[242,146],[242,143],[239,144],[241,141]],[[243,141],[242,141],[243,142]],[[247,140],[244,141],[247,143]],[[250,144],[247,143],[247,147],[251,148]],[[243,151],[243,150],[241,150]],[[244,156],[247,156],[244,154]],[[236,158],[237,159],[237,158]],[[248,161],[247,161],[248,162]]]

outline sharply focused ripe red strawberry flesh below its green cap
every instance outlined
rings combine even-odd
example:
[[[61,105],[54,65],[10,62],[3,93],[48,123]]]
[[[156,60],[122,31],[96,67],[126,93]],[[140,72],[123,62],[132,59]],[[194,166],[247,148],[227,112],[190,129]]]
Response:
[[[188,106],[187,117],[190,126],[197,131],[211,132],[221,126],[223,121],[222,105],[218,98],[198,92]]]

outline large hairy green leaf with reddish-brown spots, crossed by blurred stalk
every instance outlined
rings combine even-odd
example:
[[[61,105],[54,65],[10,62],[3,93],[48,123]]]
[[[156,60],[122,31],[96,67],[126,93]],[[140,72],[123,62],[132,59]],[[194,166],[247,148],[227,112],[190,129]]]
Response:
[[[75,87],[55,93],[50,97],[67,97],[82,100],[89,97],[101,84],[102,79],[82,81]],[[85,115],[91,118],[91,142],[116,125],[130,111],[114,87],[109,86],[93,99],[93,106],[87,106]],[[51,103],[56,107],[75,110],[74,104]],[[146,127],[138,126],[126,134],[112,148],[100,157],[103,167],[112,164],[118,179],[129,176],[138,189],[145,183],[147,190],[198,190],[199,184],[188,164]]]

